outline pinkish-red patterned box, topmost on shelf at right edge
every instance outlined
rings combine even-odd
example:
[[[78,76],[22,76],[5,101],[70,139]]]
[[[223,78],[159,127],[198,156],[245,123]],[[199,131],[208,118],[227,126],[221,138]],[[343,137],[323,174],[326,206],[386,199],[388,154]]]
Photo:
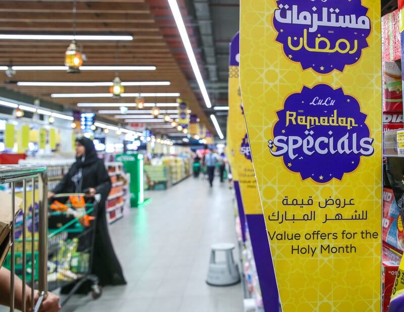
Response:
[[[401,59],[401,36],[399,31],[399,11],[396,10],[382,17],[382,60]]]

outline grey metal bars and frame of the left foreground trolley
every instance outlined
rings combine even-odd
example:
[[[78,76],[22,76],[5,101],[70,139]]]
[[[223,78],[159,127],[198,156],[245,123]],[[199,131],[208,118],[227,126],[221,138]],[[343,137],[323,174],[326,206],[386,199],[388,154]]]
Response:
[[[10,311],[15,309],[15,227],[16,227],[16,185],[22,183],[22,302],[21,309],[26,312],[26,272],[27,272],[27,248],[26,248],[26,229],[27,219],[31,218],[31,307],[32,311],[37,311],[46,295],[47,291],[47,173],[46,167],[42,166],[20,166],[20,165],[0,165],[0,184],[10,183],[11,188],[11,280],[10,280]],[[30,185],[32,189],[32,210],[29,212],[27,207],[27,187]],[[35,189],[38,186],[38,198],[35,195]],[[35,284],[35,203],[38,202],[38,284]],[[18,211],[17,211],[18,212]],[[34,289],[39,290],[39,299],[36,304],[34,302]]]

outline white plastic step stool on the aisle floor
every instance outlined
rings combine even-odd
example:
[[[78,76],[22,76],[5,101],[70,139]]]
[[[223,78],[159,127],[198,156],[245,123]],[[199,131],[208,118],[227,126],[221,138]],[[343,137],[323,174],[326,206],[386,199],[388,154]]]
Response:
[[[206,280],[209,285],[230,286],[240,282],[240,272],[233,259],[233,249],[235,247],[231,243],[220,243],[211,246],[211,260]],[[226,253],[225,262],[216,262],[217,251],[224,251]]]

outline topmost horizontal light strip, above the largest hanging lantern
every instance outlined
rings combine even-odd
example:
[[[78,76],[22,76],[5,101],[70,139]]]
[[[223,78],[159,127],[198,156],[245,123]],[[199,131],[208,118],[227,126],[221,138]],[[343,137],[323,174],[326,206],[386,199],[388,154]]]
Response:
[[[130,35],[31,35],[31,34],[0,34],[3,40],[133,40]]]

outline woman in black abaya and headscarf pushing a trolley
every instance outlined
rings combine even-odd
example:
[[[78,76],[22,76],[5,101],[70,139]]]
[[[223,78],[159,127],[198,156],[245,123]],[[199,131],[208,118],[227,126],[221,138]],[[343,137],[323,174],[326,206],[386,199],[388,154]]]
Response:
[[[97,157],[94,143],[86,137],[77,138],[76,162],[53,192],[49,193],[49,197],[56,193],[82,193],[83,191],[87,191],[91,196],[101,195],[96,216],[91,272],[98,277],[101,286],[126,284],[108,232],[105,202],[110,190],[110,176],[104,162]],[[68,293],[69,289],[62,289],[62,291]],[[82,293],[88,291],[90,291],[90,285],[80,289]]]

